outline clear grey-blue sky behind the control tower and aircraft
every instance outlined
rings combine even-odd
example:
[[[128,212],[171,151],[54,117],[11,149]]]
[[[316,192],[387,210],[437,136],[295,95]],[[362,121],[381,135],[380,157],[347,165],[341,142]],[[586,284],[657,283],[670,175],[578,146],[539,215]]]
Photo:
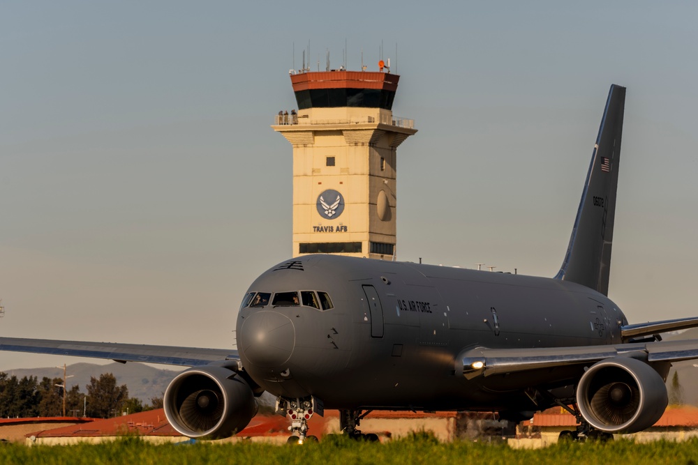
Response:
[[[3,1],[0,334],[230,346],[291,252],[288,70],[401,82],[399,259],[552,276],[628,87],[610,297],[698,315],[693,2]],[[395,49],[397,47],[397,56]],[[0,369],[72,360],[0,353]]]

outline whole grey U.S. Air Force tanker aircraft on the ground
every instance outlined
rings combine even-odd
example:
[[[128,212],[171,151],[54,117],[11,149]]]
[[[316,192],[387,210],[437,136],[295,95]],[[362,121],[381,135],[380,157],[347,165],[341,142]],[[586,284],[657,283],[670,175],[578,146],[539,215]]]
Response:
[[[625,88],[611,86],[554,278],[312,254],[251,284],[237,351],[10,337],[0,350],[191,367],[164,403],[174,429],[192,438],[240,431],[264,391],[298,442],[324,409],[339,409],[353,437],[366,437],[357,426],[371,410],[522,420],[556,405],[579,421],[563,436],[639,432],[667,406],[671,363],[698,358],[698,340],[659,333],[698,318],[628,324],[607,297],[624,105]]]

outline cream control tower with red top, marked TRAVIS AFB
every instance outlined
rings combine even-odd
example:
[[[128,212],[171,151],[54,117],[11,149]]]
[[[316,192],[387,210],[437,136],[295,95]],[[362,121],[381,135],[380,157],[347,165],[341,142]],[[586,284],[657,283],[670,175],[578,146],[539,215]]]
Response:
[[[298,112],[272,128],[293,146],[293,256],[396,254],[396,151],[415,122],[396,118],[400,79],[383,72],[292,72]]]

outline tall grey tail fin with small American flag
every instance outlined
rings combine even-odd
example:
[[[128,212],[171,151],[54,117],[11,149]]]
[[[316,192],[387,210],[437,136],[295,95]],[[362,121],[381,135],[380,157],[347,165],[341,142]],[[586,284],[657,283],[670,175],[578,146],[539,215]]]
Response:
[[[604,295],[609,290],[624,108],[625,87],[611,85],[570,245],[556,275],[557,279],[584,284]]]

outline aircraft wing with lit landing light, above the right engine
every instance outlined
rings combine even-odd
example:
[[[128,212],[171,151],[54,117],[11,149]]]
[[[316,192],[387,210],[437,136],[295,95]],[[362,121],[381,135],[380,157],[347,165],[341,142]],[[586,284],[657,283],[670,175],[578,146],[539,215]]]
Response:
[[[678,362],[698,358],[698,340],[638,342],[602,346],[541,347],[536,349],[487,349],[475,347],[463,353],[463,376],[491,376],[550,369],[567,365],[591,365],[604,358],[630,357],[646,362]]]

